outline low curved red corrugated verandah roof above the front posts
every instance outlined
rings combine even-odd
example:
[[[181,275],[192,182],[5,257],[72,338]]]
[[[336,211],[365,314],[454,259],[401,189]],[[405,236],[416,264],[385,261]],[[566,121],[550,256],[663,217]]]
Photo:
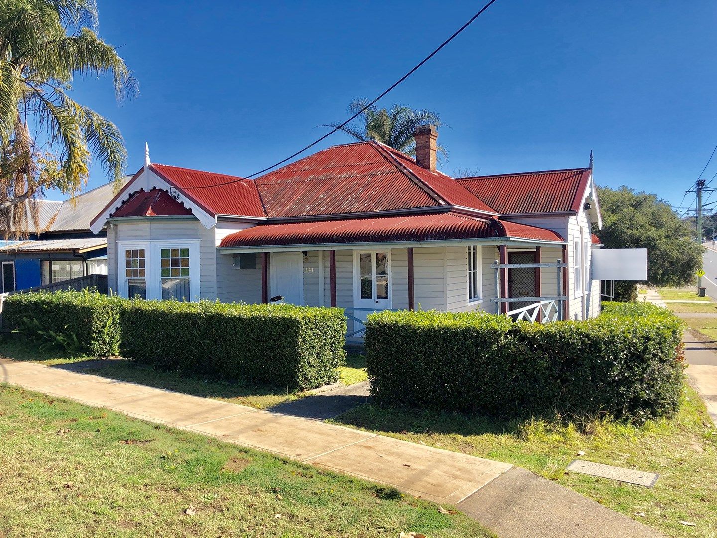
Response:
[[[447,212],[400,217],[262,224],[227,235],[219,247],[442,241],[480,237],[562,241],[562,237],[551,230]]]

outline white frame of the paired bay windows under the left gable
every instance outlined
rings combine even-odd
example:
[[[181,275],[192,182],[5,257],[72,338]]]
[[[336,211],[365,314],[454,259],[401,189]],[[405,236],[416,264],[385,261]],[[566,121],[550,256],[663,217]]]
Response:
[[[189,248],[189,293],[187,301],[199,301],[199,240],[198,239],[163,239],[148,241],[117,242],[117,285],[120,297],[128,296],[127,273],[125,271],[125,250],[143,248],[145,253],[145,280],[147,299],[162,299],[161,250],[163,248]]]

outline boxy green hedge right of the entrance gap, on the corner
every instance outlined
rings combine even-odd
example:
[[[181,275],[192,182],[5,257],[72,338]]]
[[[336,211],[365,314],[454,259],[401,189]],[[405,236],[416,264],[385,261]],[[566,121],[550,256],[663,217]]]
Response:
[[[380,404],[498,416],[670,415],[681,395],[682,329],[645,303],[607,303],[598,318],[551,324],[376,313],[366,323],[371,392]]]

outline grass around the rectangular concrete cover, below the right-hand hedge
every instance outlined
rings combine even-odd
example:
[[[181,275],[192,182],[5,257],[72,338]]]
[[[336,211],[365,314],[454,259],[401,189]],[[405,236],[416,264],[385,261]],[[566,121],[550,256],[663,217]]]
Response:
[[[515,463],[672,536],[717,535],[717,433],[701,400],[686,385],[677,417],[640,427],[607,420],[582,428],[544,420],[505,422],[371,405],[333,422]],[[577,455],[579,450],[584,456]],[[660,478],[647,489],[566,473],[565,467],[575,458],[652,471]],[[696,526],[685,526],[680,520]]]

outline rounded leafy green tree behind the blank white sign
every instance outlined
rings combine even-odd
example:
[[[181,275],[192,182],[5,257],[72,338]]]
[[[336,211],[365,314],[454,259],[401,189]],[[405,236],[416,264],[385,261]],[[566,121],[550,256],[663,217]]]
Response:
[[[598,187],[602,230],[595,230],[607,248],[647,248],[647,283],[687,285],[702,267],[704,247],[689,225],[655,194]]]

